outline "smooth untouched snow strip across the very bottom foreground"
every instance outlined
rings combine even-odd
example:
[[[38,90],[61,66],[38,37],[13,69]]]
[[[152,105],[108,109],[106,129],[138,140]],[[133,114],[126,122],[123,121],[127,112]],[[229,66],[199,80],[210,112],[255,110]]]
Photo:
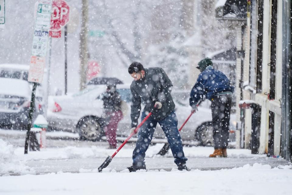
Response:
[[[289,167],[287,167],[289,168]],[[0,177],[1,194],[290,194],[292,169],[245,165],[218,171],[50,173]]]

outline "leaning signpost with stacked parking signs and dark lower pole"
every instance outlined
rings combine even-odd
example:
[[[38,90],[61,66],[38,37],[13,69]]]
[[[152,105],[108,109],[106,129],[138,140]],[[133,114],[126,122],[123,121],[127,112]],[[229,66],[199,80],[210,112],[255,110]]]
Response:
[[[43,81],[43,71],[45,67],[45,56],[47,53],[47,42],[49,37],[51,10],[52,5],[50,3],[48,4],[47,2],[45,3],[38,2],[36,6],[36,19],[33,34],[32,56],[30,58],[30,70],[28,75],[28,81],[33,82],[33,90],[30,100],[30,111],[24,144],[24,154],[27,154],[28,145],[30,141],[30,129],[34,112],[36,86],[37,83],[42,83]]]

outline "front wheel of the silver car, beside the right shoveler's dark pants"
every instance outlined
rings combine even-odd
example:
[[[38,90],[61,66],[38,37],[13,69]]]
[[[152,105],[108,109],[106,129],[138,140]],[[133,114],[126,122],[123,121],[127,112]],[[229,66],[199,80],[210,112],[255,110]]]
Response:
[[[213,146],[212,122],[204,122],[195,131],[195,139],[200,142],[200,146]]]

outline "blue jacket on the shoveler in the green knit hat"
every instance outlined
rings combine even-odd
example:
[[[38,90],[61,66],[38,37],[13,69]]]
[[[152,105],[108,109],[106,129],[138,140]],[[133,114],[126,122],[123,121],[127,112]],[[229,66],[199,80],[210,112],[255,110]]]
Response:
[[[207,66],[199,75],[191,91],[189,105],[196,105],[204,95],[211,100],[214,96],[232,94],[233,91],[234,87],[230,85],[226,75],[219,70],[213,69],[212,66]]]

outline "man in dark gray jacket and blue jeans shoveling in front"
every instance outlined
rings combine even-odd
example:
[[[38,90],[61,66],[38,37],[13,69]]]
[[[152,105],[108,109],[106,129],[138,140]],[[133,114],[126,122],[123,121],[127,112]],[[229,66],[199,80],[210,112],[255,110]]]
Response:
[[[144,111],[141,115],[143,120],[149,112],[153,114],[141,126],[138,131],[138,140],[133,151],[133,165],[128,167],[130,172],[139,169],[146,169],[145,152],[152,140],[157,123],[167,137],[175,163],[179,170],[186,169],[186,161],[182,140],[177,129],[177,117],[174,111],[175,104],[172,100],[172,82],[162,68],[146,68],[139,62],[133,62],[129,69],[129,74],[134,78],[130,89],[132,92],[131,104],[131,130],[134,132],[138,124],[141,111],[141,99],[145,102]],[[153,108],[157,108],[153,110]]]

